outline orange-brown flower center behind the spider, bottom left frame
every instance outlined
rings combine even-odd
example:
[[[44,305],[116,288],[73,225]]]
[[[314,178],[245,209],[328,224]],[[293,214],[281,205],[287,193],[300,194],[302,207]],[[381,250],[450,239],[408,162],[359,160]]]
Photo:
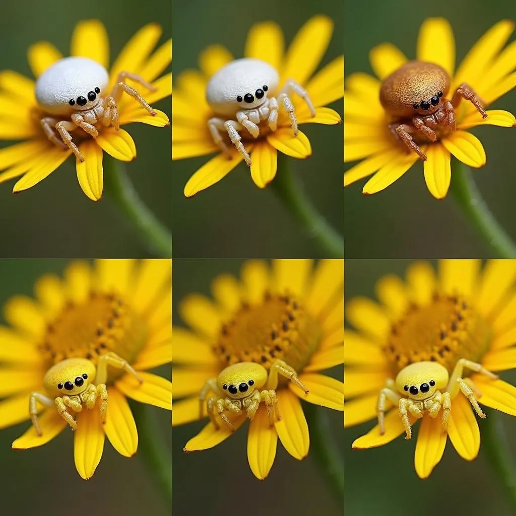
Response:
[[[49,367],[66,358],[86,358],[96,365],[108,351],[132,363],[146,337],[144,321],[120,296],[92,291],[85,302],[65,304],[47,325],[38,349]],[[112,381],[123,372],[110,373]]]

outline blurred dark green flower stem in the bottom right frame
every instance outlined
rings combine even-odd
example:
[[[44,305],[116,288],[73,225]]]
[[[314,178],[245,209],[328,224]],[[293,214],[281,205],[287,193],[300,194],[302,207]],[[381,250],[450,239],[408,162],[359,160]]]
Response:
[[[516,514],[516,471],[499,414],[491,411],[482,425],[482,449]]]

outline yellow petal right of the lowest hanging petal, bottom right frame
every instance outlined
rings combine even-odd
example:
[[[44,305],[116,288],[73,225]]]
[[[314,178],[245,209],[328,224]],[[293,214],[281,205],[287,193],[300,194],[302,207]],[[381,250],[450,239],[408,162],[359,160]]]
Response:
[[[473,460],[478,455],[480,430],[470,402],[462,395],[451,402],[448,436],[463,459]]]

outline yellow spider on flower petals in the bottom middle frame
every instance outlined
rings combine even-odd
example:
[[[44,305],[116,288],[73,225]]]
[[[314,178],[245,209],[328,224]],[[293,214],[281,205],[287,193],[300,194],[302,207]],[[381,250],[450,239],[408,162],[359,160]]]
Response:
[[[275,391],[278,386],[278,375],[288,378],[305,394],[309,393],[297,377],[295,370],[282,360],[276,360],[268,374],[267,369],[261,364],[239,362],[223,369],[217,378],[206,381],[199,394],[199,417],[202,417],[206,396],[212,391],[216,396],[206,400],[206,410],[216,429],[219,428],[219,424],[215,418],[215,411],[222,422],[234,430],[235,427],[225,411],[241,414],[245,410],[247,417],[252,420],[262,401],[265,402],[269,425],[272,426],[275,416],[277,420],[281,419]],[[262,387],[265,389],[260,391]]]

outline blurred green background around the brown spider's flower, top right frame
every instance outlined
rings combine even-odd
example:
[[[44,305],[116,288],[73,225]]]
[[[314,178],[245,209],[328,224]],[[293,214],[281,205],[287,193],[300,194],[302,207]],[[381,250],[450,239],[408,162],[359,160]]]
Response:
[[[374,5],[374,13],[372,7]],[[397,45],[415,58],[417,33],[429,17],[447,18],[455,33],[459,63],[486,30],[502,19],[516,17],[514,0],[457,0],[455,2],[347,2],[345,9],[346,76],[372,73],[368,54],[382,42]],[[509,41],[514,40],[514,35]],[[490,109],[516,112],[516,91]],[[472,130],[483,143],[487,164],[473,169],[478,188],[493,214],[516,239],[514,191],[516,129],[483,126]],[[346,164],[345,169],[355,163]],[[389,188],[362,195],[366,180],[345,190],[346,257],[349,258],[476,258],[492,252],[481,243],[448,194],[434,199],[428,192],[421,162]]]

